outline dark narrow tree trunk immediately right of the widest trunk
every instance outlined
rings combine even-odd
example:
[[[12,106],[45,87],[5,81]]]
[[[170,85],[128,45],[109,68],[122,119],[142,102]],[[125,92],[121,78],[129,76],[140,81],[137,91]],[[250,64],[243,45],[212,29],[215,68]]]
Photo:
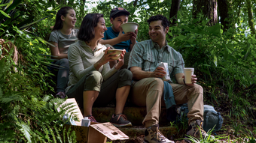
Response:
[[[230,28],[230,22],[228,18],[230,17],[228,14],[229,6],[227,4],[227,0],[218,0],[218,10],[221,16],[221,25],[224,26],[223,30],[227,31]]]

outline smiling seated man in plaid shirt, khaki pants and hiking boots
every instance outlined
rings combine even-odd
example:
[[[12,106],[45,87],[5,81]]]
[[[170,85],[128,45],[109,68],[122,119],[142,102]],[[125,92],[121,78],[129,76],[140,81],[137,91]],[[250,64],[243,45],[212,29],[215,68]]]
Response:
[[[133,84],[130,91],[131,100],[137,106],[146,106],[145,142],[172,142],[159,132],[159,116],[163,101],[164,82],[161,79],[166,72],[159,67],[160,62],[168,63],[169,75],[174,75],[178,84],[169,81],[172,86],[176,104],[187,103],[189,128],[187,135],[200,138],[209,136],[203,124],[203,88],[197,85],[196,75],[191,76],[192,84],[184,84],[184,60],[166,41],[169,21],[165,16],[151,16],[148,19],[148,34],[151,40],[136,43],[130,54],[128,69],[133,73]],[[199,130],[200,128],[200,130]],[[213,136],[211,136],[214,138]]]

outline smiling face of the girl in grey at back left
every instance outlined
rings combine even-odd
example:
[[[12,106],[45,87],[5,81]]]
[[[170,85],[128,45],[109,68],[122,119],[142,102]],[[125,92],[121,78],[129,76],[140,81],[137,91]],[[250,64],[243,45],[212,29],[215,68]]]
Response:
[[[75,17],[75,10],[68,10],[66,16],[61,16],[61,19],[63,22],[63,26],[65,25],[68,28],[74,28],[75,22],[77,21],[77,18]]]

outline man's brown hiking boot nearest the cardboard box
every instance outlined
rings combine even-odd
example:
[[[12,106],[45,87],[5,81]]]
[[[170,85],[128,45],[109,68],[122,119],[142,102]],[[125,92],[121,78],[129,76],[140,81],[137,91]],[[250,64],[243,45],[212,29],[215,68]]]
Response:
[[[161,133],[158,128],[158,125],[148,127],[145,130],[145,138],[143,143],[175,143],[163,136],[163,133]]]

